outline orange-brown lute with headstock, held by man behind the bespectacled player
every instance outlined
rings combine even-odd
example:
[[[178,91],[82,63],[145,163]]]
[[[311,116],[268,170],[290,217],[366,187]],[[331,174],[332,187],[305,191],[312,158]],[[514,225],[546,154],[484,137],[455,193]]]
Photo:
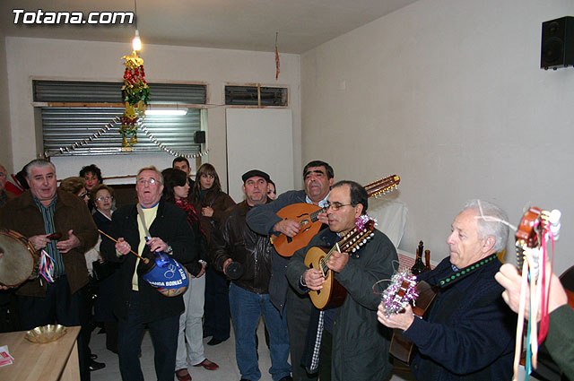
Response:
[[[378,197],[392,192],[401,182],[396,175],[381,178],[365,186],[369,197]],[[291,203],[282,208],[277,215],[283,220],[293,220],[300,224],[301,229],[295,237],[287,237],[283,233],[279,236],[271,236],[271,243],[279,255],[291,256],[301,247],[306,247],[321,229],[318,221],[320,212],[326,212],[326,208],[320,208],[312,203]]]

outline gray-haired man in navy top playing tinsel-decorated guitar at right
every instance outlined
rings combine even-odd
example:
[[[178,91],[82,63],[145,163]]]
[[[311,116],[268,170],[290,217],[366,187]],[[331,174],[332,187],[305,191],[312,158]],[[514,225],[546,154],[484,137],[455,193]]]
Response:
[[[388,316],[378,307],[378,320],[414,343],[411,369],[417,380],[512,378],[517,316],[494,279],[501,265],[497,253],[509,236],[505,221],[506,213],[492,203],[467,203],[447,238],[450,256],[418,277],[438,288],[424,317],[413,316],[410,305]]]

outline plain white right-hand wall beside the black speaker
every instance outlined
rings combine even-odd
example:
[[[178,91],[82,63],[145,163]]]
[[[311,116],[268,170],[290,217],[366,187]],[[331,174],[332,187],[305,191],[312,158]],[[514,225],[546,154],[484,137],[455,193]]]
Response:
[[[529,202],[559,208],[560,273],[574,262],[574,68],[539,65],[542,22],[566,15],[571,0],[420,0],[305,53],[302,162],[361,183],[399,174],[400,247],[422,239],[435,260],[467,199],[514,224]]]

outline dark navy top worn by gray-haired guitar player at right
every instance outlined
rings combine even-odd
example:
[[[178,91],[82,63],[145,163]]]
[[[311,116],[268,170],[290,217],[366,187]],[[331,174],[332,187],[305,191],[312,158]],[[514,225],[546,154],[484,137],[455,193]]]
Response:
[[[472,272],[467,272],[472,265],[459,270],[466,271],[457,277],[447,257],[419,276],[439,286],[439,293],[424,319],[415,317],[404,332],[418,350],[411,364],[417,380],[512,378],[517,316],[504,303],[503,288],[494,279],[500,265],[494,257]]]

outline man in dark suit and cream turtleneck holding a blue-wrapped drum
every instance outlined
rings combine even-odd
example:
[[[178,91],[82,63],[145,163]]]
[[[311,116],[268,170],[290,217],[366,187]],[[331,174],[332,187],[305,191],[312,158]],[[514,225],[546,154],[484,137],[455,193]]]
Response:
[[[100,246],[106,260],[121,263],[114,300],[114,313],[119,319],[119,369],[123,380],[143,381],[138,356],[143,328],[147,325],[155,351],[157,379],[173,381],[183,299],[181,295],[168,298],[143,281],[138,273],[143,264],[130,250],[146,258],[153,258],[152,252],[163,251],[187,264],[196,261],[194,235],[186,213],[161,199],[163,178],[155,167],[140,169],[135,190],[138,203],[126,205],[113,214],[109,232],[117,243],[103,238]],[[152,236],[147,243],[143,223]]]

